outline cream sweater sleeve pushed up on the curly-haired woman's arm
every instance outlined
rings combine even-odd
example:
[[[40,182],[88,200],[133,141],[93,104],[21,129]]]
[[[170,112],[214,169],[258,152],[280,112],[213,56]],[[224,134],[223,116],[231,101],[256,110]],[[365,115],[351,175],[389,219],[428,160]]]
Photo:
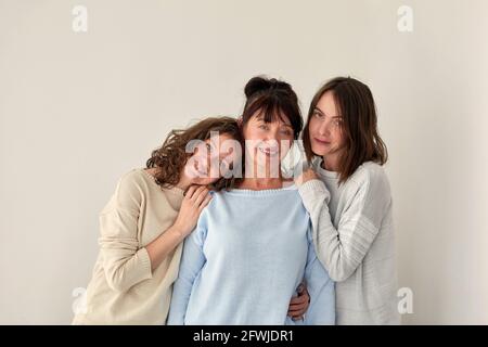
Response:
[[[133,176],[123,177],[108,204],[100,214],[99,244],[108,286],[126,292],[134,284],[152,278],[151,259],[139,247],[138,219],[142,201]]]

